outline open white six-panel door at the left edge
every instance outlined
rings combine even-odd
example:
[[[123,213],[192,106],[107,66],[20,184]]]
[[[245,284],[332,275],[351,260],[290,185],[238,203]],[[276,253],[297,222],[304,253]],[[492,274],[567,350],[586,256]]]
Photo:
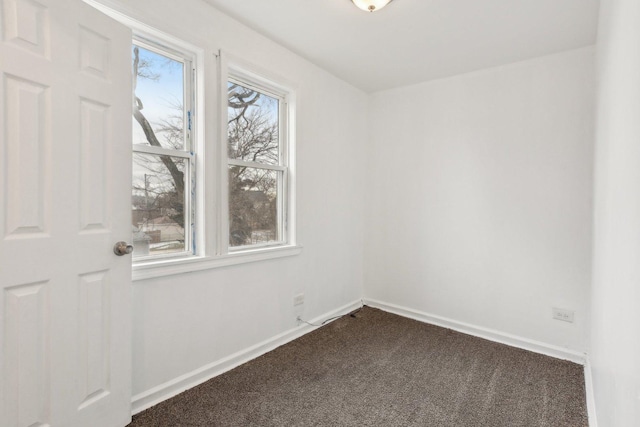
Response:
[[[0,0],[0,425],[130,420],[131,34]]]

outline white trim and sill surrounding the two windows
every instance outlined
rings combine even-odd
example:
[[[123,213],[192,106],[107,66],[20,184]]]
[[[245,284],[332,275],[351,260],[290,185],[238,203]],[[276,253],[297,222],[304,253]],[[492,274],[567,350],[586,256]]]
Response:
[[[196,99],[193,103],[197,114],[193,140],[198,154],[194,166],[196,169],[195,254],[134,262],[132,280],[185,274],[300,254],[302,246],[296,241],[295,204],[296,86],[268,70],[261,69],[227,52],[205,52],[203,48],[158,30],[157,28],[162,27],[162,23],[156,26],[144,23],[143,21],[148,17],[132,14],[120,4],[111,3],[109,0],[84,1],[131,28],[134,38],[149,40],[161,46],[166,45],[179,52],[192,53],[196,67],[197,80],[194,82]],[[229,68],[236,76],[245,76],[249,81],[260,82],[261,86],[271,87],[276,93],[288,94],[289,183],[286,244],[228,251],[226,82]],[[205,123],[209,124],[206,128]]]

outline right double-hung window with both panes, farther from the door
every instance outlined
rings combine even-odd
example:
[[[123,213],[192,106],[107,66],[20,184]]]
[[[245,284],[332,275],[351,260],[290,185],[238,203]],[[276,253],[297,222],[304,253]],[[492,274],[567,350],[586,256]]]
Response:
[[[286,243],[286,94],[227,82],[230,250]]]

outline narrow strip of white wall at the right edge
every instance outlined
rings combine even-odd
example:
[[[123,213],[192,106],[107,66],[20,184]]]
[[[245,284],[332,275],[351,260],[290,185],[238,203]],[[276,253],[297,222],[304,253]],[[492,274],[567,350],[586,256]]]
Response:
[[[640,2],[602,0],[591,362],[600,427],[640,425]]]

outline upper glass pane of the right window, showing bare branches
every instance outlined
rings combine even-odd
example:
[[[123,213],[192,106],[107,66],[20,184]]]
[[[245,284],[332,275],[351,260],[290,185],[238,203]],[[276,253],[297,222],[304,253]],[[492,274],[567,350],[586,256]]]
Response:
[[[229,158],[278,164],[278,99],[233,82],[227,89]]]

